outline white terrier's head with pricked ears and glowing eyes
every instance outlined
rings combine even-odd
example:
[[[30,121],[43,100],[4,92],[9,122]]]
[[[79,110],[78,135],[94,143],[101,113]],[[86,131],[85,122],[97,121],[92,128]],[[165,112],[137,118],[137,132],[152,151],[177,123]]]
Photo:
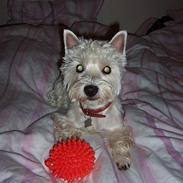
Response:
[[[71,101],[97,106],[114,100],[121,90],[126,39],[126,31],[104,42],[79,39],[64,30],[65,57],[61,71]]]

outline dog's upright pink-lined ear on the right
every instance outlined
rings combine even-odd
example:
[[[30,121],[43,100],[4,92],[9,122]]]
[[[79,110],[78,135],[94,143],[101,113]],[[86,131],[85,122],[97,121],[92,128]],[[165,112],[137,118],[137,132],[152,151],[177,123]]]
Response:
[[[109,42],[114,48],[122,54],[126,51],[127,32],[119,31]]]

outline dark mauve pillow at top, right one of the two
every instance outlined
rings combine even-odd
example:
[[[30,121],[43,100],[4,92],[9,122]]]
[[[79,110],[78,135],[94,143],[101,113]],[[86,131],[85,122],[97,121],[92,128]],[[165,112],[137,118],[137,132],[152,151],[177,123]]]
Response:
[[[96,21],[103,0],[55,0],[55,21],[71,26],[78,21]]]

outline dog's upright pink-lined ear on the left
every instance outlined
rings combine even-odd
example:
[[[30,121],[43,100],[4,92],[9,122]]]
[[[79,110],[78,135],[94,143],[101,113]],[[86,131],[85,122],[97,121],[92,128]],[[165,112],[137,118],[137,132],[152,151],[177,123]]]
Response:
[[[76,46],[79,43],[78,37],[70,30],[64,29],[64,46],[65,46],[65,53],[67,50]]]

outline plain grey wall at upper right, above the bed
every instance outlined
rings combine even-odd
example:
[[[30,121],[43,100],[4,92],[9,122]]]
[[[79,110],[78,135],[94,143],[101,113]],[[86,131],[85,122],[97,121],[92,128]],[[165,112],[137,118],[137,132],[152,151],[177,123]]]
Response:
[[[135,32],[148,17],[161,17],[175,8],[183,8],[183,0],[104,0],[98,21],[119,22],[121,29]]]

